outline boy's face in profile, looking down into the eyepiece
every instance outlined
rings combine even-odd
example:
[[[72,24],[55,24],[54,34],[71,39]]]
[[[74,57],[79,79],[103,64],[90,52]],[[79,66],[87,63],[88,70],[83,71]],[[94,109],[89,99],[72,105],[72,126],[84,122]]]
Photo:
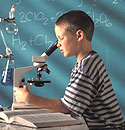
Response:
[[[55,25],[55,34],[58,39],[58,47],[61,53],[65,57],[77,56],[77,38],[76,35],[72,35],[70,32],[66,31],[66,26]]]

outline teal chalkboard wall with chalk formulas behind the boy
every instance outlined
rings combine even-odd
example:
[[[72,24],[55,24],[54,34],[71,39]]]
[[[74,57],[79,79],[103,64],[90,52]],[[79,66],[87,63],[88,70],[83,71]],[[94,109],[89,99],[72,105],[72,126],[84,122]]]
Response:
[[[15,66],[32,65],[32,56],[40,56],[56,41],[54,23],[64,12],[83,10],[95,23],[93,48],[103,59],[113,88],[125,118],[125,0],[0,0],[0,17],[8,17],[11,6],[16,5],[16,23],[18,35],[7,35],[5,25],[0,23],[7,45],[15,53]],[[123,27],[124,26],[124,27]],[[5,46],[0,36],[0,54],[5,54]],[[6,60],[0,59],[0,75]],[[31,87],[33,93],[60,98],[67,86],[75,58],[64,58],[56,50],[47,60],[51,74],[44,73],[44,79],[51,80],[43,88]],[[32,71],[25,75],[27,79],[36,77]],[[0,85],[0,104],[10,106],[12,86]]]

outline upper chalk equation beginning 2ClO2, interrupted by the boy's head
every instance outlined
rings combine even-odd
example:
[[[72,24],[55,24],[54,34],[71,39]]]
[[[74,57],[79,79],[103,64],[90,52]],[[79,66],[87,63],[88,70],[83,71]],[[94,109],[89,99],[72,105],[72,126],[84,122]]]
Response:
[[[20,12],[20,23],[40,21],[43,25],[51,24],[55,22],[58,17],[60,17],[64,12],[57,11],[54,16],[46,16],[42,11],[40,12]],[[88,11],[87,14],[93,19],[95,27],[98,27],[99,24],[104,24],[106,27],[111,27],[112,23],[109,21],[108,17],[104,13],[100,13],[99,16],[95,12]]]

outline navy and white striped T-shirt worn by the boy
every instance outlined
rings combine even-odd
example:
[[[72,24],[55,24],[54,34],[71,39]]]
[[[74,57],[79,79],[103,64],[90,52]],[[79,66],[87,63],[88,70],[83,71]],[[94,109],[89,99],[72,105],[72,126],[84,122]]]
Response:
[[[105,65],[91,51],[72,70],[62,103],[83,116],[90,130],[122,128],[123,117]]]

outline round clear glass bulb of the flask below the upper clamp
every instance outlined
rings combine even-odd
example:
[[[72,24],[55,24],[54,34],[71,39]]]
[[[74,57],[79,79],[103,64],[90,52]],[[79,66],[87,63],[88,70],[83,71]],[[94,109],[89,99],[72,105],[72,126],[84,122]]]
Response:
[[[5,30],[9,35],[16,35],[18,33],[18,27],[14,22],[9,22],[6,25]]]

